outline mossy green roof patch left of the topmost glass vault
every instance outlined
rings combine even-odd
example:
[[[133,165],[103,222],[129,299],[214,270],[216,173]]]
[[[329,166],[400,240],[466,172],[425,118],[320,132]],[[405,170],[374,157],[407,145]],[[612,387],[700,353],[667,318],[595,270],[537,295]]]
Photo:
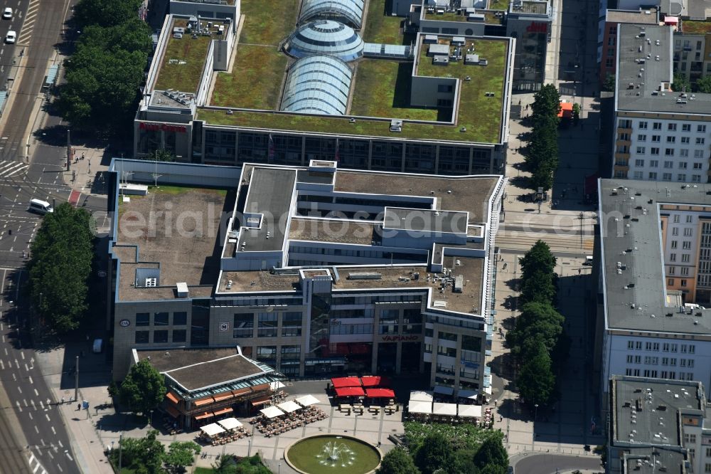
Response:
[[[242,0],[240,8],[245,16],[240,43],[277,46],[294,31],[299,1]]]

